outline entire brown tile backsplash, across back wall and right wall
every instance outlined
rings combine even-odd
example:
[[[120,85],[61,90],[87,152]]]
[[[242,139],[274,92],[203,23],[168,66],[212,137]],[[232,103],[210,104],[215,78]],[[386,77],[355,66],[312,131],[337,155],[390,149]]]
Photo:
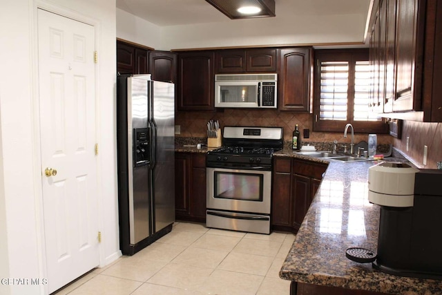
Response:
[[[276,110],[244,110],[224,109],[224,111],[177,112],[175,125],[180,125],[181,134],[177,137],[207,137],[206,123],[209,120],[219,120],[220,126],[278,126],[284,130],[284,140],[291,140],[291,132],[298,124],[302,135],[303,129],[310,129],[310,137],[305,142],[349,143],[349,137],[342,133],[313,132],[313,115],[309,113],[280,112]],[[357,130],[356,130],[357,132]],[[368,141],[367,134],[355,134],[354,141]],[[410,137],[407,151],[407,137]],[[442,161],[442,124],[404,121],[401,139],[390,135],[378,135],[378,144],[393,144],[418,166],[436,169],[436,162]],[[423,149],[428,148],[427,165],[423,166]]]

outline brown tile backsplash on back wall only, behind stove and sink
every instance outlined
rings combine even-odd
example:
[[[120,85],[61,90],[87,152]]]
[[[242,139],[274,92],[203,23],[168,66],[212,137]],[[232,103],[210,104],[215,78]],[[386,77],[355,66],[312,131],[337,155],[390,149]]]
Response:
[[[209,120],[219,120],[223,126],[278,126],[284,131],[284,140],[291,140],[291,133],[298,124],[301,136],[303,129],[310,130],[308,142],[349,143],[350,138],[344,138],[344,129],[341,133],[313,132],[313,115],[309,113],[280,112],[277,110],[244,110],[225,108],[224,111],[203,112],[189,111],[175,114],[175,125],[180,125],[180,135],[177,137],[207,137],[206,124]],[[367,134],[354,135],[354,142],[368,141]],[[304,139],[302,139],[304,140]],[[390,135],[378,135],[378,144],[392,144]]]

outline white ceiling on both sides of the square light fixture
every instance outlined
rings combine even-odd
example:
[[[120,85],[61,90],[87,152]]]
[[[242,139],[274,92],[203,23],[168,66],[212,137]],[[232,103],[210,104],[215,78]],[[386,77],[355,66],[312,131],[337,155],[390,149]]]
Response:
[[[157,26],[217,23],[231,20],[204,0],[116,0],[117,8]],[[275,0],[276,17],[297,15],[361,15],[367,18],[372,0]]]

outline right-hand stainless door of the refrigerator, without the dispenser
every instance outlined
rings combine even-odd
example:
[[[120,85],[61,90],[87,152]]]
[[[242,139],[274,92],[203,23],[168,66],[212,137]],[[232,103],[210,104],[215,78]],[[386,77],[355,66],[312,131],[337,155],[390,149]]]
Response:
[[[175,221],[175,85],[151,82],[154,232]]]

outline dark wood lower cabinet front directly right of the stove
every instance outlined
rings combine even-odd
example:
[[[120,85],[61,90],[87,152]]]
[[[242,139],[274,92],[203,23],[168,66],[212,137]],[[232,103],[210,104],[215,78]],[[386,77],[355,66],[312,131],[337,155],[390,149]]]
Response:
[[[271,225],[291,227],[291,160],[275,158]]]

